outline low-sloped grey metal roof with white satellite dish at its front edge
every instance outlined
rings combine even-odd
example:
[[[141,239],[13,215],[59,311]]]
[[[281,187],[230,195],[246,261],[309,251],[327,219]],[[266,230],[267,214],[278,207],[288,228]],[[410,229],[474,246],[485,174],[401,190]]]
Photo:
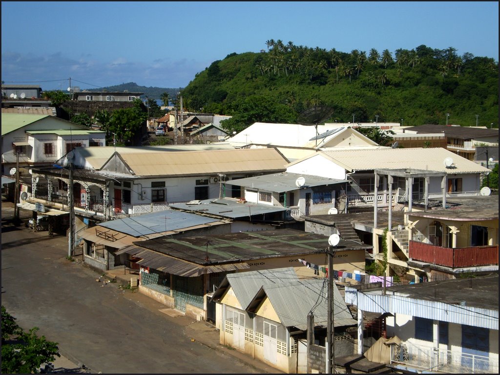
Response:
[[[298,177],[305,179],[304,187],[332,185],[335,183],[347,182],[346,179],[335,179],[310,174],[298,174],[281,172],[274,174],[264,174],[260,176],[238,178],[226,181],[228,185],[244,186],[267,191],[284,192],[299,188],[295,181]]]

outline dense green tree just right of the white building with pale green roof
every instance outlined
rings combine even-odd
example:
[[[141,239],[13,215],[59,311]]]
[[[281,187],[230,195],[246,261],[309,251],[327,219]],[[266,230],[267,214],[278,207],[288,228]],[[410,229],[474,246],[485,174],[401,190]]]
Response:
[[[141,108],[140,99],[134,100],[134,106],[130,108],[115,109],[109,118],[106,129],[106,137],[112,139],[113,133],[116,139],[124,144],[131,142],[133,135],[139,131],[147,118],[147,113]]]

